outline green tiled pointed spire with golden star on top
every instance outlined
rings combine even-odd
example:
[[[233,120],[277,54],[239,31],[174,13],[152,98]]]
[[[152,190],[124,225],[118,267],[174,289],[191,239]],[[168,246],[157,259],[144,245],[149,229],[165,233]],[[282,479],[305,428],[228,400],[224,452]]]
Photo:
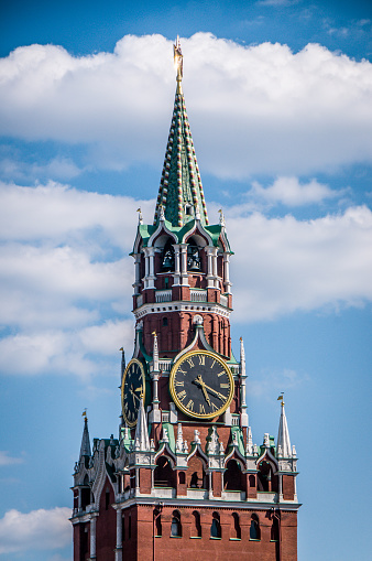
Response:
[[[208,225],[201,179],[180,84],[183,56],[178,37],[174,46],[174,58],[177,67],[177,90],[156,201],[154,224],[158,220],[160,206],[162,205],[165,219],[172,226],[184,226],[187,222],[199,217],[198,214],[201,224]]]

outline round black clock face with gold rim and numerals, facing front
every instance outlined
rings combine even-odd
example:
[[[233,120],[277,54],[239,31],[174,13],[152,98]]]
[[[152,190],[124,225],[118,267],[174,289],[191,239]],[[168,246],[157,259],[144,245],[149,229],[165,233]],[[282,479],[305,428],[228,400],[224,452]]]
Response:
[[[192,350],[173,366],[171,395],[184,413],[212,419],[226,411],[233,396],[233,377],[228,365],[208,350]]]

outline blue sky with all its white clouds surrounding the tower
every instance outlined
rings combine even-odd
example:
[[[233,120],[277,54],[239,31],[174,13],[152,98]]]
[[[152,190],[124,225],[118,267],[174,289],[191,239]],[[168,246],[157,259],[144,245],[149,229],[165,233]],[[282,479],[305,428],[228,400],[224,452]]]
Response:
[[[298,558],[370,551],[370,2],[22,2],[0,13],[0,559],[72,559],[72,472],[117,434],[129,251],[175,76],[232,259],[253,440],[285,392]],[[47,531],[45,531],[47,530]],[[46,538],[45,538],[46,536]],[[342,536],[342,539],[340,539]]]

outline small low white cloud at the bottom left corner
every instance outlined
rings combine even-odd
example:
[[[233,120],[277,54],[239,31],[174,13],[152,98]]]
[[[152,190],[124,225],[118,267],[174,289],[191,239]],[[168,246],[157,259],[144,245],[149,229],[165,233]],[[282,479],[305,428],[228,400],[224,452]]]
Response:
[[[70,508],[32,510],[12,509],[0,519],[0,554],[32,550],[54,550],[72,541]]]

